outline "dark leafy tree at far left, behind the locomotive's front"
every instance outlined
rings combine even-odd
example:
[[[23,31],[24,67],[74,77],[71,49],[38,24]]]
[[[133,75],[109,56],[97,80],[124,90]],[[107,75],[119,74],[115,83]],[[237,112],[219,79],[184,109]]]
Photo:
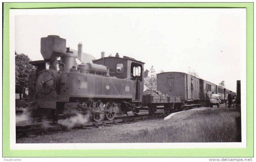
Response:
[[[29,57],[25,54],[15,54],[15,84],[28,86],[28,76],[36,71],[35,66],[29,64]]]

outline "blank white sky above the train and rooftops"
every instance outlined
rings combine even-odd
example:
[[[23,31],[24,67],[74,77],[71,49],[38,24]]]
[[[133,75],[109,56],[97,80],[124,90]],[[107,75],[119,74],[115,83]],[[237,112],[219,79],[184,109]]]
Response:
[[[244,8],[87,8],[20,10],[15,51],[42,60],[40,39],[59,35],[67,47],[100,58],[117,52],[145,62],[144,69],[196,72],[236,91],[246,56]]]

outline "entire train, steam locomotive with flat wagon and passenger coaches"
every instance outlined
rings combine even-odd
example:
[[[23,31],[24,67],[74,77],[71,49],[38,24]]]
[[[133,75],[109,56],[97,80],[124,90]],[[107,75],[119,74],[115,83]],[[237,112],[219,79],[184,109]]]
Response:
[[[228,91],[189,74],[166,72],[157,74],[161,95],[144,94],[144,62],[117,53],[77,64],[77,55],[58,35],[41,38],[41,54],[44,60],[30,62],[36,73],[29,75],[28,95],[16,101],[16,107],[29,107],[33,118],[56,122],[82,114],[99,122],[128,111],[139,115],[148,110],[153,115],[159,107],[171,113],[200,106],[206,90],[220,93],[223,100]]]

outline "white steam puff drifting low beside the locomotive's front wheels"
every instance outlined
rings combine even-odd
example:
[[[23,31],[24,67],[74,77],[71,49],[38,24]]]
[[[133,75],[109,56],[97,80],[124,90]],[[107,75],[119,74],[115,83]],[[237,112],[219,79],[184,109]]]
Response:
[[[83,125],[88,121],[89,121],[89,115],[77,114],[76,116],[66,118],[65,120],[58,120],[58,123],[60,125],[67,127],[68,129],[71,129],[76,125]]]

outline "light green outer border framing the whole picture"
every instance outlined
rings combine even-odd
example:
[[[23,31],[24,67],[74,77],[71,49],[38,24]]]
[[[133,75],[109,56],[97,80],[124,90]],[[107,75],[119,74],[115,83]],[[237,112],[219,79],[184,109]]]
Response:
[[[247,147],[118,150],[10,150],[9,9],[11,8],[246,8]],[[3,157],[253,157],[253,3],[3,3]]]

